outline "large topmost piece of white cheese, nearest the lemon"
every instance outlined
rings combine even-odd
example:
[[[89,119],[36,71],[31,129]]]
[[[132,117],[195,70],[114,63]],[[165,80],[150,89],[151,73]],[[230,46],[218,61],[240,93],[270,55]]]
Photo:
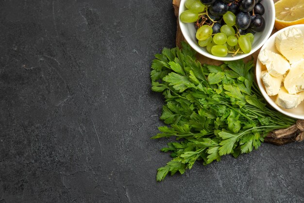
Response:
[[[292,27],[278,34],[275,46],[290,64],[304,58],[304,37],[299,28]]]

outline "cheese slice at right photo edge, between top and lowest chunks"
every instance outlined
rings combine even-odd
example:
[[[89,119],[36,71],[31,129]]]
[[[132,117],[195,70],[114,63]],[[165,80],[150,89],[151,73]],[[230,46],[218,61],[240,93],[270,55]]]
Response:
[[[304,60],[291,65],[290,71],[284,80],[284,86],[290,94],[304,91]]]

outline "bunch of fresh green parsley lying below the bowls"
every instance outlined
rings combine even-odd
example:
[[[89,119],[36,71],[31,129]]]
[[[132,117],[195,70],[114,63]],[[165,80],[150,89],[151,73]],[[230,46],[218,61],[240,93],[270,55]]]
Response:
[[[152,91],[163,92],[160,119],[168,126],[159,127],[152,139],[176,138],[161,149],[170,151],[172,160],[158,168],[157,181],[169,172],[183,174],[196,160],[207,165],[225,154],[249,153],[270,131],[295,123],[266,105],[253,81],[253,61],[202,66],[186,43],[155,57]]]

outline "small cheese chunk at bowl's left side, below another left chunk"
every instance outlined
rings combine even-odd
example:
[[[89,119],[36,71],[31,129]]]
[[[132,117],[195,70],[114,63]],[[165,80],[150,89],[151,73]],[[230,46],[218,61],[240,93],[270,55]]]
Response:
[[[267,71],[263,71],[261,73],[261,76],[267,94],[270,96],[278,94],[283,80],[283,75],[274,77],[271,74],[269,74]]]

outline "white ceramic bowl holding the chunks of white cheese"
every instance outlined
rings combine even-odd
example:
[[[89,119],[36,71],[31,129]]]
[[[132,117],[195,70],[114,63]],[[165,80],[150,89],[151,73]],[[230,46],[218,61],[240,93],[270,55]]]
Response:
[[[275,44],[274,44],[274,40],[275,37],[279,34],[284,32],[285,30],[291,28],[291,27],[297,27],[299,28],[303,33],[304,33],[304,24],[301,25],[293,25],[293,26],[289,26],[286,27],[282,30],[279,30],[278,32],[274,33],[267,41],[266,43],[263,45],[262,49],[266,49],[266,50],[270,50],[272,52],[278,53],[280,54],[276,48],[275,48]],[[274,101],[276,96],[269,96],[265,90],[264,84],[262,82],[261,79],[261,72],[266,70],[266,67],[261,63],[261,61],[259,59],[257,59],[256,61],[256,66],[255,66],[255,75],[256,75],[256,81],[257,84],[263,94],[263,96],[265,97],[265,99],[268,101],[268,103],[277,111],[280,111],[281,113],[284,113],[287,116],[293,117],[293,118],[298,118],[298,119],[304,119],[304,101],[295,109],[283,109],[281,107],[279,107]]]

